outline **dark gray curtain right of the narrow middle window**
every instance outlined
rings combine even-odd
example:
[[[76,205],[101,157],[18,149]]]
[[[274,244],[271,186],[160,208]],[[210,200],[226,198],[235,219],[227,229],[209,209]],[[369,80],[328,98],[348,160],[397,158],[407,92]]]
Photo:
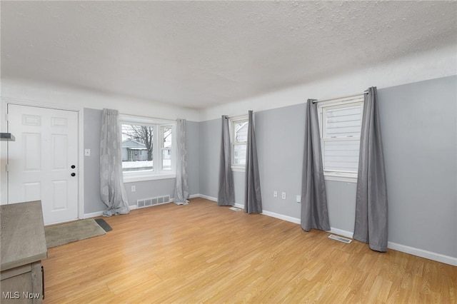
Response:
[[[246,145],[246,183],[244,196],[244,211],[247,213],[262,213],[262,196],[260,178],[258,176],[258,160],[256,133],[254,131],[253,113],[249,111],[248,143]]]

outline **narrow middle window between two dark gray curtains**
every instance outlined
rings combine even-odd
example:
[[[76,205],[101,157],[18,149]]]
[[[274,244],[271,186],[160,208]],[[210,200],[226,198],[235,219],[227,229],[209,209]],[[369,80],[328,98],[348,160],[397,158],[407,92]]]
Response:
[[[230,119],[231,168],[244,171],[246,167],[246,143],[248,142],[248,117]]]

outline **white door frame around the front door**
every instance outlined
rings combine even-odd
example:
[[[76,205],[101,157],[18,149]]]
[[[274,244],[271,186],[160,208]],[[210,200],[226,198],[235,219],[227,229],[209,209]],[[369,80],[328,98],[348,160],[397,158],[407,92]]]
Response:
[[[75,111],[78,113],[78,218],[84,218],[84,110],[82,107],[69,106],[66,104],[44,103],[31,99],[1,98],[1,130],[7,130],[6,118],[8,113],[8,105],[14,104],[18,106],[34,106],[36,108],[51,108],[54,110]],[[0,202],[6,204],[8,192],[8,176],[6,175],[6,166],[8,160],[8,145],[6,141],[1,145],[0,150]],[[4,157],[6,156],[6,157]]]

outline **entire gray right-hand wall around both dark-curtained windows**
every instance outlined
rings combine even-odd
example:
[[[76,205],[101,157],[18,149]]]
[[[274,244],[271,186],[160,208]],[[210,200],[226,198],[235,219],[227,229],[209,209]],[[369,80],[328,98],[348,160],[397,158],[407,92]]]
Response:
[[[451,76],[378,90],[388,240],[452,257],[457,257],[456,82]],[[300,218],[304,117],[304,103],[255,113],[264,211]],[[200,193],[206,196],[217,197],[220,133],[219,119],[200,123]],[[241,204],[243,180],[243,173],[234,173]],[[353,232],[356,183],[326,181],[326,191],[331,227]]]

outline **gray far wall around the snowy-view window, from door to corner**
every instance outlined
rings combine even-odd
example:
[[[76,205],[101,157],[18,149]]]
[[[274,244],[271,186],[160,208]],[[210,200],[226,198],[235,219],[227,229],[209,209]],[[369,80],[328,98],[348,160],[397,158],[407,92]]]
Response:
[[[84,213],[94,213],[106,209],[100,199],[100,127],[101,110],[84,108],[84,148],[91,149],[91,156],[84,157]],[[189,192],[198,194],[200,188],[199,123],[186,121],[186,144],[189,159]],[[174,181],[174,178],[168,178],[125,183],[129,205],[136,205],[136,200],[141,198],[166,195],[174,197]],[[135,192],[131,192],[131,186],[135,186]]]

